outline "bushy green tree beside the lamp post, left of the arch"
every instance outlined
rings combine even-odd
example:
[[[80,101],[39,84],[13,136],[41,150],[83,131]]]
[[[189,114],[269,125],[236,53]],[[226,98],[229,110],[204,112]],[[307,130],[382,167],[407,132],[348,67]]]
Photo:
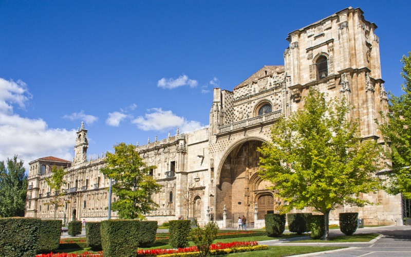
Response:
[[[151,195],[158,193],[161,186],[148,175],[150,169],[156,167],[146,166],[136,145],[120,143],[114,150],[114,154],[106,153],[106,167],[100,170],[106,177],[117,181],[113,192],[119,199],[111,204],[111,210],[118,211],[120,218],[143,219],[143,214],[158,206]]]

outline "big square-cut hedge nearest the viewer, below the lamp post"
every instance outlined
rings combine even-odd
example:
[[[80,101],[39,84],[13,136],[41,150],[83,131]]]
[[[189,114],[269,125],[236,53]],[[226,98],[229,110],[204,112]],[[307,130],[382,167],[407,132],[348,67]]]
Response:
[[[135,256],[139,245],[140,221],[109,219],[100,223],[101,248],[104,257]]]

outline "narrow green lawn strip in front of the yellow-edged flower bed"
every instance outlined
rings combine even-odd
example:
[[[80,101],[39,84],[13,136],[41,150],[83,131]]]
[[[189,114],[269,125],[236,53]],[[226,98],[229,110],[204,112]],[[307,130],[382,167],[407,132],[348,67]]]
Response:
[[[333,247],[333,246],[269,246],[268,250],[252,251],[252,252],[239,252],[230,253],[220,256],[253,256],[253,257],[279,257],[279,256],[291,256],[296,254],[304,254],[310,252],[330,251],[335,249],[341,249],[346,247]]]

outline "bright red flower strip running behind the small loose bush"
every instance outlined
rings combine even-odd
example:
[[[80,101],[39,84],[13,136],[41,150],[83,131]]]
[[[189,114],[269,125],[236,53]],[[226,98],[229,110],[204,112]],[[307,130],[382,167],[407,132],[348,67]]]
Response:
[[[217,243],[210,246],[210,250],[222,250],[227,248],[244,247],[244,246],[255,246],[258,245],[256,241],[254,242],[231,242],[231,243]],[[145,255],[160,255],[160,254],[170,254],[170,253],[181,253],[181,252],[197,252],[197,246],[190,246],[178,249],[148,249],[148,250],[138,250],[137,254],[140,256]],[[54,256],[53,256],[54,257]]]

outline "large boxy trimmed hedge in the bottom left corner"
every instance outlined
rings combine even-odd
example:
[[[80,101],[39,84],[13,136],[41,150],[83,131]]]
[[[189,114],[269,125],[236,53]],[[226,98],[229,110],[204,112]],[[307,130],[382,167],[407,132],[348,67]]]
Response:
[[[40,237],[39,218],[0,218],[0,255],[32,257]]]

